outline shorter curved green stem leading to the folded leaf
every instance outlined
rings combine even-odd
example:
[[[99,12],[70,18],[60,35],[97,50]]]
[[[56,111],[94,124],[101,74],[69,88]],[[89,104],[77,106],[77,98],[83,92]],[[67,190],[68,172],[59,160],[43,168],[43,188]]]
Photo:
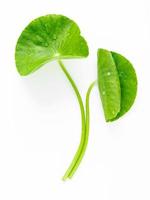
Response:
[[[74,173],[76,172],[77,168],[80,165],[80,162],[83,159],[83,156],[85,154],[86,148],[87,148],[87,144],[88,144],[88,139],[89,139],[89,129],[90,129],[90,105],[89,105],[89,99],[90,99],[90,93],[94,87],[94,85],[96,84],[96,81],[92,82],[92,84],[89,86],[88,91],[86,93],[86,131],[85,131],[85,140],[84,140],[84,144],[82,147],[82,151],[80,156],[78,157],[78,160],[76,162],[76,164],[74,165],[74,168],[72,169],[72,171],[69,174],[69,178],[72,178],[72,176],[74,175]]]

